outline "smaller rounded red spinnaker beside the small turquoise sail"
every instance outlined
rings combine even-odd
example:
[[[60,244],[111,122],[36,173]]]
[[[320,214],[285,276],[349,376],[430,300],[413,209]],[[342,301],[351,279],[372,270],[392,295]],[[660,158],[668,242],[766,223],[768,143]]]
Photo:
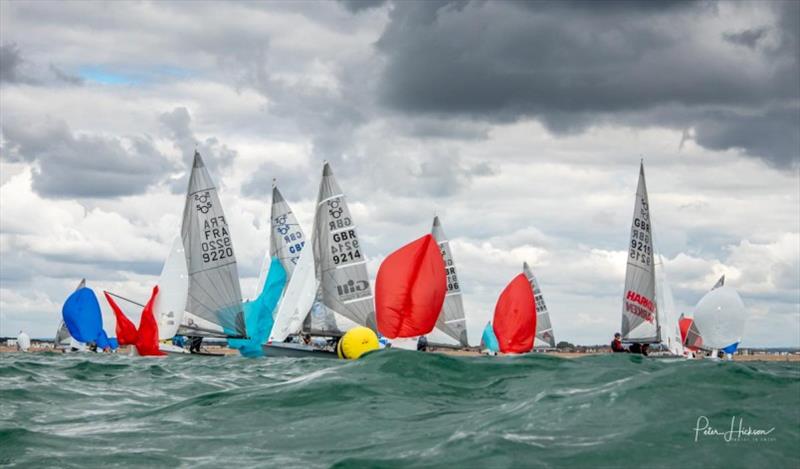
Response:
[[[536,301],[525,274],[514,277],[500,294],[492,325],[501,352],[527,353],[533,349]]]

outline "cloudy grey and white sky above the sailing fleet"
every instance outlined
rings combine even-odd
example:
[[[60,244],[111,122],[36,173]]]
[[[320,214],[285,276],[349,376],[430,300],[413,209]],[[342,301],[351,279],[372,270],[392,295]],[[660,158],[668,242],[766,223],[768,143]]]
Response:
[[[0,1],[0,335],[148,298],[197,148],[245,296],[327,160],[373,277],[440,216],[475,343],[523,261],[610,341],[643,160],[679,312],[724,274],[743,346],[800,346],[798,57],[799,2]]]

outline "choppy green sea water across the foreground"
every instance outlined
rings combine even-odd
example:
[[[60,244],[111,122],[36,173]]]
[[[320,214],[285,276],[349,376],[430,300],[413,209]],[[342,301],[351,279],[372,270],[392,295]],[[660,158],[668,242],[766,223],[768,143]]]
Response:
[[[0,355],[0,465],[800,466],[800,364]]]

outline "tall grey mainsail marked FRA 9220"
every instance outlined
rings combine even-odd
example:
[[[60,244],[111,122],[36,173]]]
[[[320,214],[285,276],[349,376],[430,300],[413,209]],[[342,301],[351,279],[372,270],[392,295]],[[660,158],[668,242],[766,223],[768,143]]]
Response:
[[[184,315],[182,333],[217,335],[209,332],[217,327],[204,327],[217,325],[225,335],[246,336],[230,229],[217,189],[197,152],[189,177],[181,238],[189,273],[189,314]]]

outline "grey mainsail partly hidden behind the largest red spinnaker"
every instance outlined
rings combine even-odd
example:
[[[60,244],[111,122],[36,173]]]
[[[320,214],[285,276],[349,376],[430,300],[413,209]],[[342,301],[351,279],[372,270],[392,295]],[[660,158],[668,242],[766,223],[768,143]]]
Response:
[[[467,320],[464,315],[464,302],[461,298],[461,286],[458,282],[456,265],[453,262],[453,253],[450,251],[450,241],[444,234],[442,223],[438,216],[433,217],[431,234],[439,244],[442,253],[444,269],[447,274],[447,293],[442,305],[442,312],[436,319],[436,328],[457,340],[464,347],[469,346],[467,341]]]

